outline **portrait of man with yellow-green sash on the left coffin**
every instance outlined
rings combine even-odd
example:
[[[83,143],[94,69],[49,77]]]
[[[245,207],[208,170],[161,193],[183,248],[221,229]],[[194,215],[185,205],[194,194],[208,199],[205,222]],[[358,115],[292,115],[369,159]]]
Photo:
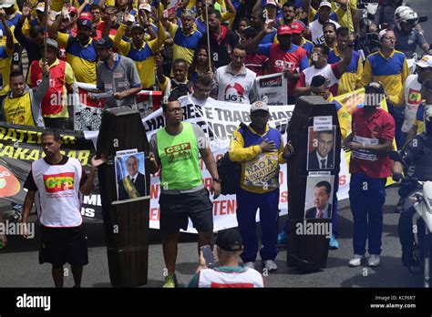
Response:
[[[139,172],[139,158],[135,155],[126,160],[128,175],[118,180],[118,200],[135,199],[145,196],[146,177]]]

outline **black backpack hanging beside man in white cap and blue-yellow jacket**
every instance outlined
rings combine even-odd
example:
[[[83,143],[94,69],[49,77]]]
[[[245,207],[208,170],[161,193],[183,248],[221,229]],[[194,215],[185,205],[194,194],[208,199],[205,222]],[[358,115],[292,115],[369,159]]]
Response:
[[[242,137],[246,135],[249,129],[244,123],[240,124],[242,128]],[[218,174],[221,179],[221,194],[237,194],[240,190],[240,177],[242,174],[242,165],[239,162],[231,161],[228,150],[225,155],[217,162]]]

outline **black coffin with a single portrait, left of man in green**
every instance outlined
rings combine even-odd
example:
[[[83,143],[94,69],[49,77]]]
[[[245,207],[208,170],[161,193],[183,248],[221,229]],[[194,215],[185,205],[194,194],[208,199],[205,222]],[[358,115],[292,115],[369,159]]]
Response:
[[[149,258],[149,167],[145,160],[146,196],[117,201],[114,157],[119,150],[137,148],[149,157],[149,142],[139,112],[129,107],[104,111],[98,135],[98,154],[108,164],[98,169],[109,278],[114,287],[147,284]]]

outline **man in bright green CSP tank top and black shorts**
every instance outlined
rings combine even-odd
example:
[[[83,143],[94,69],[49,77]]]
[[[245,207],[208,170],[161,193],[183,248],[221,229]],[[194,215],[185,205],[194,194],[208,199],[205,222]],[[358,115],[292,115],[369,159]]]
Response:
[[[166,127],[150,139],[150,171],[160,169],[160,219],[163,257],[168,269],[163,287],[176,287],[175,265],[180,229],[187,230],[188,218],[198,231],[199,247],[210,245],[213,234],[213,204],[201,180],[200,158],[213,179],[211,194],[221,194],[216,162],[208,139],[197,125],[181,122],[183,110],[178,100],[163,104]]]

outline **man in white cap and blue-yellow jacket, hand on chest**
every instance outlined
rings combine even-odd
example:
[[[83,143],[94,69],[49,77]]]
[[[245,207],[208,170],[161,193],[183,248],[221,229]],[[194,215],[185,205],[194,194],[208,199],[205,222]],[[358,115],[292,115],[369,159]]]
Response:
[[[237,222],[242,234],[244,268],[255,268],[258,252],[256,212],[260,210],[262,224],[262,265],[268,271],[277,270],[279,213],[279,164],[293,153],[290,143],[283,147],[281,132],[270,128],[269,107],[262,101],[251,106],[251,124],[234,131],[230,145],[230,159],[240,162],[242,174],[237,196]]]

